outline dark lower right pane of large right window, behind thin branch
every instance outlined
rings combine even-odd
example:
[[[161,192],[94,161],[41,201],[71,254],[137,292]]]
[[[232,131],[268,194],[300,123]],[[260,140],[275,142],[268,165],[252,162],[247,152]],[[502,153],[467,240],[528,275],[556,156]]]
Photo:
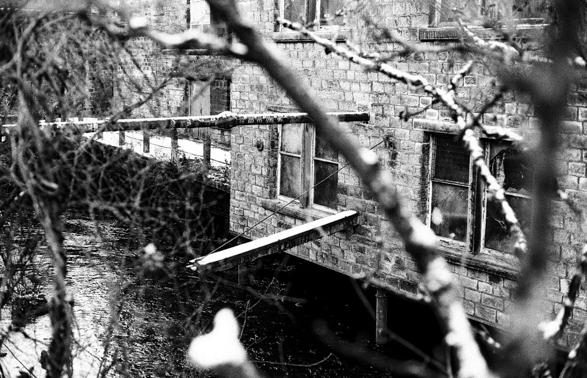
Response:
[[[527,231],[531,220],[531,199],[514,195],[506,195],[505,198],[514,210],[522,231]],[[504,216],[499,208],[488,202],[485,221],[485,247],[497,249],[501,252],[514,253],[515,242],[515,237],[508,234]]]

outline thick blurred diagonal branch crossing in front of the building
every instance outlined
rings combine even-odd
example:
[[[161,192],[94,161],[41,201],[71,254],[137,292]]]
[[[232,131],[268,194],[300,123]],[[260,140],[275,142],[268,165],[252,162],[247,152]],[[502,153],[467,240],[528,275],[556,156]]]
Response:
[[[308,92],[297,73],[279,58],[276,49],[273,46],[269,47],[261,35],[241,16],[234,1],[214,0],[210,2],[210,7],[218,19],[225,20],[239,39],[247,45],[247,58],[262,65],[309,114],[318,132],[345,156],[382,204],[387,217],[392,220],[404,239],[407,251],[413,255],[422,271],[424,285],[433,298],[439,322],[447,333],[446,342],[456,351],[460,376],[490,376],[487,364],[474,342],[461,305],[458,285],[436,247],[436,237],[430,228],[421,224],[402,205],[397,188],[389,174],[382,170],[375,153],[361,149],[356,141],[350,139],[349,134],[338,126],[335,119],[326,114],[319,100]]]

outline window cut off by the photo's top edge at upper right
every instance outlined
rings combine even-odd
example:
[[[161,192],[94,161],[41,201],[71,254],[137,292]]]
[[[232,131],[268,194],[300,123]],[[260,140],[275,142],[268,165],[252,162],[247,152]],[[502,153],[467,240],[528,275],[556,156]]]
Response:
[[[542,17],[541,4],[535,0],[432,0],[434,25],[463,21],[473,24],[488,21],[514,20],[524,23],[539,23]],[[455,11],[457,9],[457,11]]]

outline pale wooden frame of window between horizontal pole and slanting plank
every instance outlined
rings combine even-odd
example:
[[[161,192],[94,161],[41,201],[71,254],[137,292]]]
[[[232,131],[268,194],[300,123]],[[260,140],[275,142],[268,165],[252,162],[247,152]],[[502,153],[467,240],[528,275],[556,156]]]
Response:
[[[336,191],[336,208],[330,208],[324,205],[319,205],[314,203],[314,177],[315,177],[315,164],[314,160],[325,161],[327,163],[336,163],[338,169],[340,168],[340,161],[333,161],[328,160],[325,158],[316,157],[315,148],[316,148],[316,127],[312,123],[301,123],[298,124],[302,127],[302,141],[301,141],[301,150],[299,156],[294,153],[289,153],[286,151],[281,150],[281,141],[282,141],[282,128],[284,125],[278,125],[278,143],[277,143],[277,185],[276,185],[276,197],[278,200],[282,201],[292,201],[292,203],[299,205],[300,208],[303,209],[315,209],[323,212],[329,212],[332,214],[336,214],[338,212],[338,189]],[[308,153],[309,151],[309,153]],[[285,154],[287,156],[295,156],[300,158],[300,193],[302,196],[298,199],[288,197],[286,195],[282,195],[281,193],[281,156]],[[337,172],[338,177],[338,172]]]

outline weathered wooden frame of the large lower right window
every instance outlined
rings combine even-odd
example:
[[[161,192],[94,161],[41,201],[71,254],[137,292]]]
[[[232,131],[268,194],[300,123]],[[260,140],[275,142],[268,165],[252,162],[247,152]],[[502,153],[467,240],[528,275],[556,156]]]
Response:
[[[429,167],[428,167],[428,197],[427,197],[427,225],[432,227],[432,212],[433,212],[433,184],[434,183],[442,183],[442,184],[450,184],[450,185],[457,185],[460,187],[468,187],[467,189],[467,229],[465,230],[466,238],[464,241],[458,241],[456,239],[451,239],[447,237],[442,237],[437,235],[437,238],[443,242],[443,244],[448,245],[450,247],[460,248],[461,251],[464,251],[470,255],[480,255],[482,253],[489,253],[489,254],[511,254],[509,251],[500,251],[498,249],[493,249],[487,247],[486,238],[486,229],[487,229],[487,208],[488,208],[488,195],[487,195],[487,184],[483,178],[481,178],[480,173],[478,172],[477,167],[474,165],[474,161],[469,155],[468,161],[468,183],[461,184],[455,183],[451,180],[442,180],[435,178],[433,176],[434,171],[434,164],[435,164],[435,153],[436,153],[436,146],[437,146],[437,139],[439,136],[454,136],[451,133],[430,133],[430,151],[429,151]],[[490,163],[490,146],[492,143],[508,143],[511,141],[504,140],[494,140],[494,139],[481,139],[481,147],[484,150],[484,160],[485,163]],[[490,167],[491,169],[491,167]],[[494,172],[492,172],[494,173]],[[528,200],[532,200],[532,197],[526,194],[520,193],[508,193],[505,191],[506,196],[512,197],[519,197],[519,198],[527,198]]]

